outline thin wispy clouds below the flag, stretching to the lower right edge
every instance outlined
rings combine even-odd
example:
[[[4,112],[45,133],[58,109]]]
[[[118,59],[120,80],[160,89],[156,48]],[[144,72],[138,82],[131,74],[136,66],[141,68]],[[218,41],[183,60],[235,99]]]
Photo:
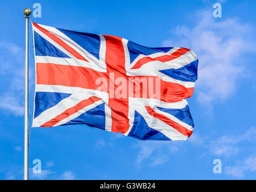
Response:
[[[232,175],[237,178],[242,178],[245,172],[255,172],[256,169],[256,153],[255,153],[255,137],[256,128],[251,127],[244,133],[240,134],[229,134],[216,139],[209,140],[209,137],[201,137],[199,134],[195,134],[194,139],[187,140],[192,144],[195,149],[204,149],[204,154],[198,158],[209,157],[224,157],[226,161],[233,162],[234,158],[243,163],[237,166],[228,166],[225,163],[225,174]],[[193,138],[193,137],[192,137]],[[135,166],[140,168],[142,164],[146,166],[156,167],[162,166],[169,161],[169,155],[176,154],[180,151],[184,151],[186,146],[185,142],[164,142],[164,141],[139,141],[134,148],[138,148],[138,155],[136,157]],[[241,160],[239,157],[240,152],[249,154],[249,158]]]

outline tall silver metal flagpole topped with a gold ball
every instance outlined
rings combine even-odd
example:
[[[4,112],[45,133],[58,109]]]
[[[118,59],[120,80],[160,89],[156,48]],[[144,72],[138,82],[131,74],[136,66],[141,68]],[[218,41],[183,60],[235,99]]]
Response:
[[[25,124],[24,124],[24,180],[28,180],[28,20],[31,10],[24,10],[26,19],[26,51],[25,51]]]

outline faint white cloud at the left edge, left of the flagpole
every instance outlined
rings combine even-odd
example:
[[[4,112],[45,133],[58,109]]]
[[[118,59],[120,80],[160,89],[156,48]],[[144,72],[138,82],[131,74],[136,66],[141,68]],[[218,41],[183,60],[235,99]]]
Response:
[[[10,83],[0,95],[0,108],[15,116],[24,113],[24,51],[8,41],[0,41],[1,78]],[[11,77],[11,78],[10,78]]]

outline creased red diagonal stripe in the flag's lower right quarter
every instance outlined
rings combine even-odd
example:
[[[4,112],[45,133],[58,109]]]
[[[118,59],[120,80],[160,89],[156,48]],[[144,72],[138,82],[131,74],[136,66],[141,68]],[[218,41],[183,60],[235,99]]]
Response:
[[[145,106],[147,109],[147,112],[150,113],[150,115],[154,116],[155,118],[165,122],[166,124],[170,125],[172,128],[183,134],[184,136],[190,137],[192,134],[192,131],[188,130],[186,127],[183,127],[182,125],[178,124],[175,121],[172,121],[172,119],[167,118],[166,116],[157,113],[155,110],[153,110],[150,106]]]

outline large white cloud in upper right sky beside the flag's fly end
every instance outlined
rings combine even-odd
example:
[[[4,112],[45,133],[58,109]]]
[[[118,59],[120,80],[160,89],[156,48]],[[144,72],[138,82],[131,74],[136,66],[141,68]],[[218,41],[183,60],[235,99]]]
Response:
[[[198,101],[225,101],[245,74],[244,54],[255,53],[252,29],[239,19],[216,19],[213,10],[198,10],[192,27],[177,26],[163,46],[188,47],[199,59],[195,85]],[[242,65],[241,65],[242,64]]]

